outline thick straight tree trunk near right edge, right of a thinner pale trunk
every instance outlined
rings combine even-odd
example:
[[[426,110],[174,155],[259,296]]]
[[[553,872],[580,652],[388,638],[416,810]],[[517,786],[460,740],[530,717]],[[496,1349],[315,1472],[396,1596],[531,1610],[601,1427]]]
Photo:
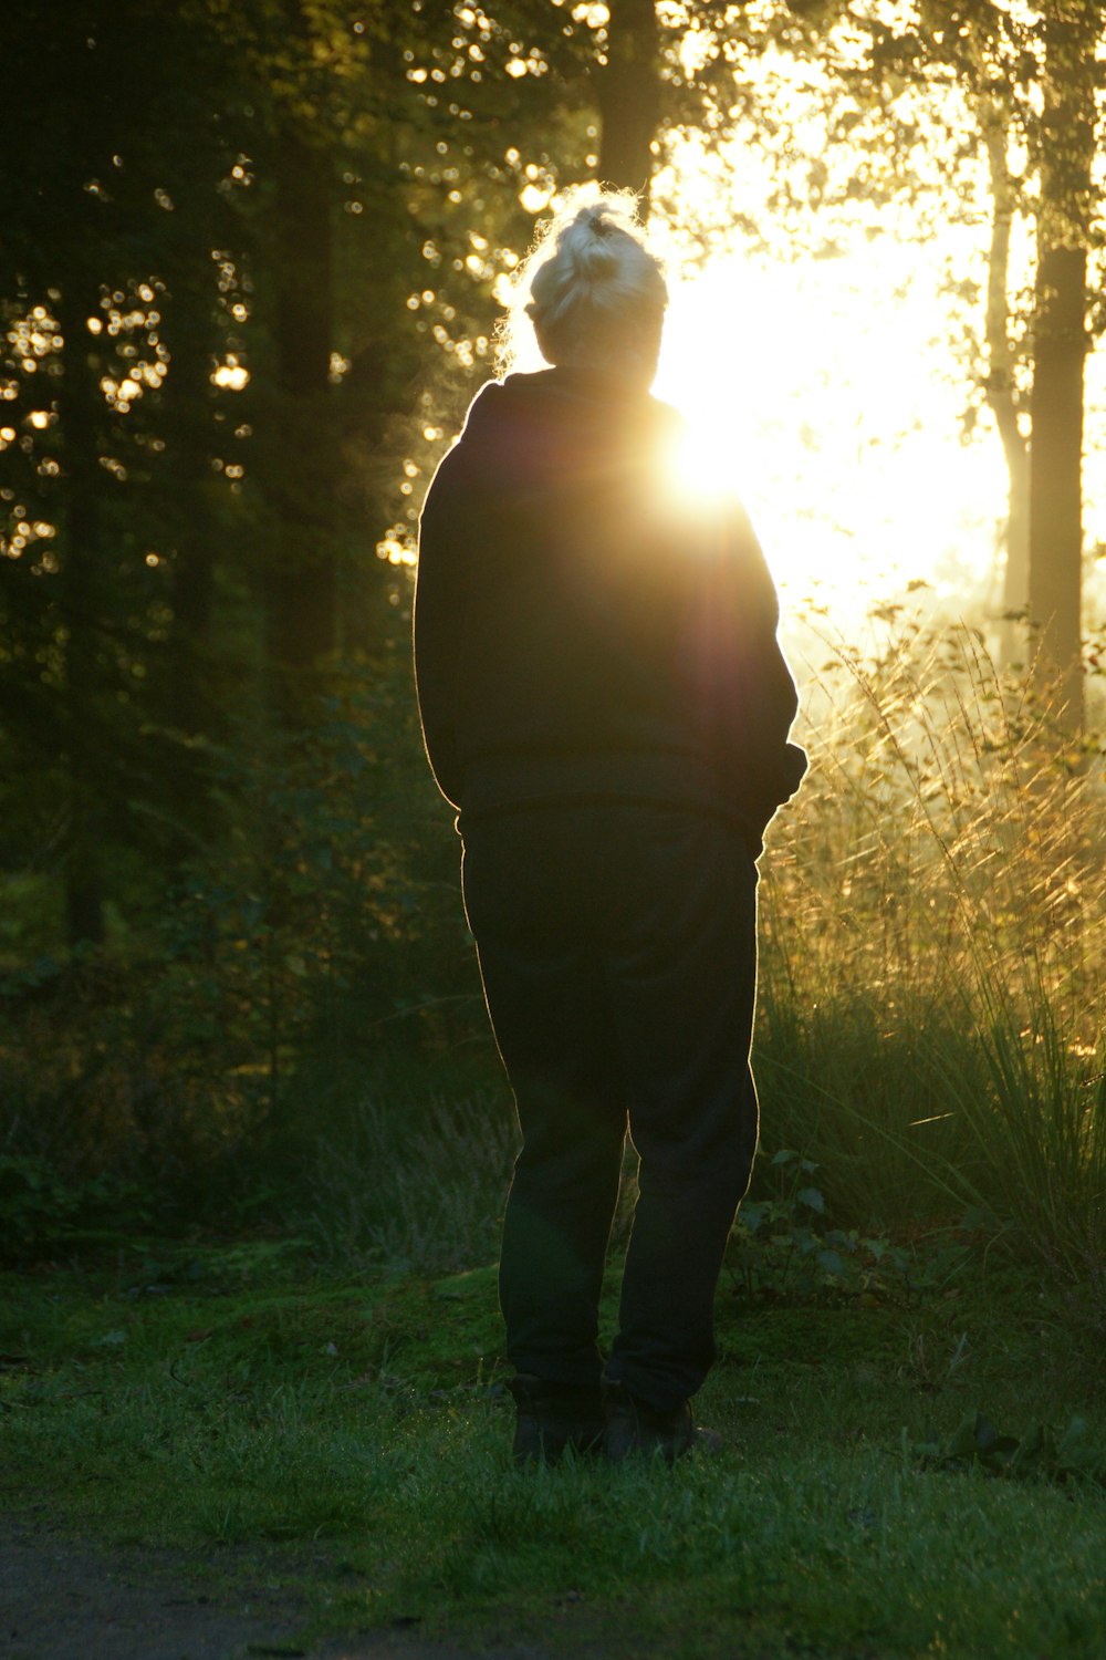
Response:
[[[1041,689],[1065,725],[1083,724],[1083,365],[1094,100],[1086,80],[1098,23],[1089,7],[1045,23],[1041,199],[1030,443],[1030,624]]]

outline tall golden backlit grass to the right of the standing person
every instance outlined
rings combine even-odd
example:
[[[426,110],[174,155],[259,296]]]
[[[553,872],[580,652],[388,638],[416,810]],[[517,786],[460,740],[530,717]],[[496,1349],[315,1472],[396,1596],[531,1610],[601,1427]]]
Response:
[[[885,1220],[990,1213],[1106,1311],[1106,800],[968,629],[808,692],[763,885],[766,1135]]]

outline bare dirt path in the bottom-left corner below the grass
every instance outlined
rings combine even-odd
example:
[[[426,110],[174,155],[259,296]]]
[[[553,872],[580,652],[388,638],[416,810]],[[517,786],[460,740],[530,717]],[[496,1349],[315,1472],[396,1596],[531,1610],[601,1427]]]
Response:
[[[98,1550],[45,1519],[0,1514],[2,1660],[546,1660],[532,1647],[479,1655],[413,1632],[353,1635],[305,1648],[305,1602],[264,1570],[214,1550],[204,1592],[172,1550]],[[298,1564],[302,1572],[303,1564]]]

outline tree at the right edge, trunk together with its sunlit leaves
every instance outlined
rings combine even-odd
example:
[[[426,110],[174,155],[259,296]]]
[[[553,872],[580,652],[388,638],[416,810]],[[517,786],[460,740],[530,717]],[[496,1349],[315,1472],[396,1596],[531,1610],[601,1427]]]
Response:
[[[1094,0],[1041,0],[1031,10],[995,0],[919,0],[899,28],[871,28],[869,61],[880,76],[953,85],[975,111],[993,196],[985,383],[1010,470],[1007,596],[1025,598],[1038,682],[1073,729],[1083,722],[1083,374],[1103,38]],[[1016,186],[1008,166],[1013,138],[1028,156]],[[1031,219],[1036,242],[1025,335],[1028,440],[1005,304],[1015,211]]]

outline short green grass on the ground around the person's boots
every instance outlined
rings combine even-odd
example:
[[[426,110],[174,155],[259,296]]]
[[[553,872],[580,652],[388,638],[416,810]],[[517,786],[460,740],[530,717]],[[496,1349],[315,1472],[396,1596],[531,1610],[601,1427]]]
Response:
[[[1103,1491],[927,1471],[914,1443],[978,1406],[1015,1434],[1083,1413],[1106,1451],[1099,1350],[1023,1267],[934,1263],[924,1293],[847,1300],[723,1282],[698,1406],[726,1449],[537,1474],[507,1457],[491,1268],[335,1280],[295,1245],[177,1245],[7,1275],[0,1502],[197,1560],[279,1554],[313,1635],[1098,1657]]]

